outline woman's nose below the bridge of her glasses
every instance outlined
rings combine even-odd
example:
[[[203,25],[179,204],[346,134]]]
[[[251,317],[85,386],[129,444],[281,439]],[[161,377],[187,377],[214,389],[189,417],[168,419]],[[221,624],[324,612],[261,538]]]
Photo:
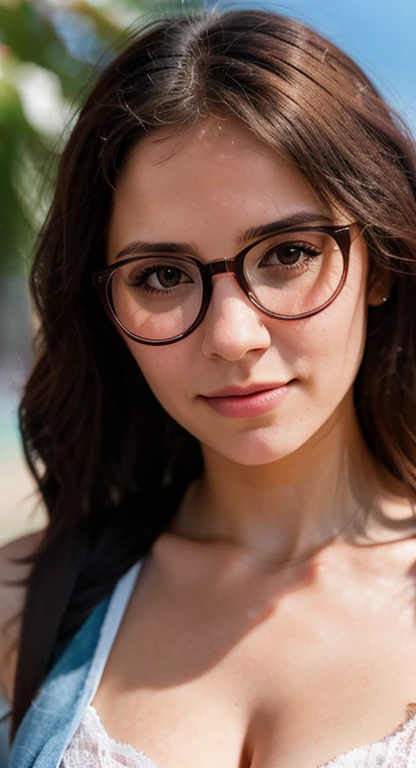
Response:
[[[267,318],[245,295],[231,273],[212,278],[212,296],[202,322],[202,352],[206,357],[241,360],[248,352],[271,343]]]

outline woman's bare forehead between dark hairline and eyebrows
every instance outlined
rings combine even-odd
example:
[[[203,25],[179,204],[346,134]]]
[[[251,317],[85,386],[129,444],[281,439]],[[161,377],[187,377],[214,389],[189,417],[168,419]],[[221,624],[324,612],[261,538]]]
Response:
[[[238,239],[299,210],[328,213],[302,174],[238,120],[157,129],[139,141],[117,180],[110,252],[137,237],[197,246],[207,237]]]

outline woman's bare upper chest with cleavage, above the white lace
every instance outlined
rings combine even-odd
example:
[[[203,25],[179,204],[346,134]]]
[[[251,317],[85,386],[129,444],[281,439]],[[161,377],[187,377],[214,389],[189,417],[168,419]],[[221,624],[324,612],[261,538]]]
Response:
[[[416,701],[411,584],[341,585],[144,580],[94,700],[108,733],[160,768],[316,768],[383,738]]]

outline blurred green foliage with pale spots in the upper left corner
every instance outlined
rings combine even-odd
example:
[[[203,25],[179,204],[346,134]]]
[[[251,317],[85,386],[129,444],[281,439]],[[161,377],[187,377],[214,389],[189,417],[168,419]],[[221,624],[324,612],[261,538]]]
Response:
[[[51,165],[65,122],[123,29],[142,15],[196,10],[202,0],[86,0],[0,4],[0,272],[22,268],[51,186]],[[49,118],[42,100],[49,99]],[[46,114],[46,118],[45,118]]]

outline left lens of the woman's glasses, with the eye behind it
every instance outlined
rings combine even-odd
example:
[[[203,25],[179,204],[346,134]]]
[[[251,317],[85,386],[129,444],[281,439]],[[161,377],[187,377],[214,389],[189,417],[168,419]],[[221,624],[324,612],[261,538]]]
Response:
[[[198,317],[203,286],[198,267],[186,257],[143,256],[117,268],[109,299],[124,328],[149,341],[168,340]]]

